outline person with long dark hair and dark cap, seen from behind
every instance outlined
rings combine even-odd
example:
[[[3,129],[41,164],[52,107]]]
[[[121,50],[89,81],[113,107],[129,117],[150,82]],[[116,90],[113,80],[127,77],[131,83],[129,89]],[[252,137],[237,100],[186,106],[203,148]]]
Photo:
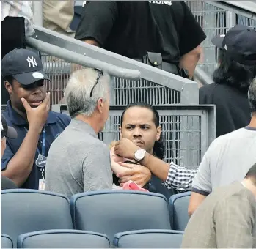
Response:
[[[227,34],[213,37],[219,48],[219,68],[213,81],[200,88],[200,105],[216,105],[216,137],[245,127],[251,114],[247,92],[256,76],[256,31],[234,26]]]

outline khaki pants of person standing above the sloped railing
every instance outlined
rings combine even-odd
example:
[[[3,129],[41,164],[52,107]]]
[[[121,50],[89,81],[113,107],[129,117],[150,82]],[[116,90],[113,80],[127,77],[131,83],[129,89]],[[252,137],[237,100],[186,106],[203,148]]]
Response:
[[[74,17],[74,4],[74,0],[43,0],[43,27],[74,37],[75,31],[70,29]]]

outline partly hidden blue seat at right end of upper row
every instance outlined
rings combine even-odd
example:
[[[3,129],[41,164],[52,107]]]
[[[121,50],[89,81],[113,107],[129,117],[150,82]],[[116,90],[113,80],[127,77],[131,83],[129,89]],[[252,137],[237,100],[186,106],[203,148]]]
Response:
[[[169,217],[172,229],[184,231],[189,222],[189,198],[191,192],[178,193],[169,198]]]

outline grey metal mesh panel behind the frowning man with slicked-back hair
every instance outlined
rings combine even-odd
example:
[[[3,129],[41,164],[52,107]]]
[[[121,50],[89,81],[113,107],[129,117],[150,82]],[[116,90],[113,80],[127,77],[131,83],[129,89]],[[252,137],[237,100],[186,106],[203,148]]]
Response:
[[[156,106],[156,105],[155,105]],[[54,105],[54,111],[67,113],[66,105]],[[109,119],[98,138],[106,145],[120,139],[123,106],[112,105]],[[198,105],[157,105],[167,162],[197,168],[209,144],[215,138],[214,107]]]

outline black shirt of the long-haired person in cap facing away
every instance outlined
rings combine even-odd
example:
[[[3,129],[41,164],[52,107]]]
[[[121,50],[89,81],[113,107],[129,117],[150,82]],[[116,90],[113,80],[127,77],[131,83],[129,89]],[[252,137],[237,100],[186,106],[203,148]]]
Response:
[[[246,92],[232,86],[212,83],[199,91],[200,105],[216,105],[216,137],[249,124],[251,114]]]

